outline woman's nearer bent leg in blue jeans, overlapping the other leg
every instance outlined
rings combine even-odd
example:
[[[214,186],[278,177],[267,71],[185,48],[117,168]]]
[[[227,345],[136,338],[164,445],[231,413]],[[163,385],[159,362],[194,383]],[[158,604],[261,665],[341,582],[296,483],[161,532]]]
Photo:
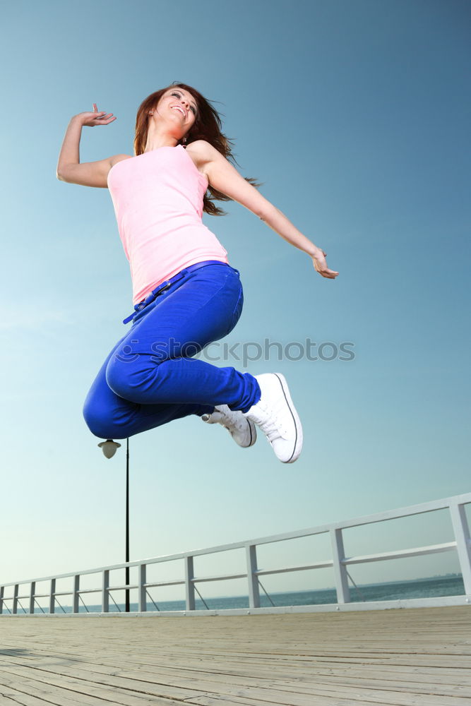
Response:
[[[109,359],[109,387],[141,405],[228,405],[246,412],[260,399],[256,378],[191,358],[234,328],[242,299],[232,268],[196,270],[143,311]]]

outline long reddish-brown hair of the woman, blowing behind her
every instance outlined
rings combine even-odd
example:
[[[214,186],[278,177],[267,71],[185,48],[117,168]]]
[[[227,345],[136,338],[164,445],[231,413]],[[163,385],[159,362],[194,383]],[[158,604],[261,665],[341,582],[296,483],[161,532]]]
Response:
[[[229,138],[222,133],[222,122],[220,116],[210,104],[210,101],[201,95],[196,88],[186,85],[186,83],[179,83],[178,81],[174,81],[167,86],[167,88],[161,88],[160,90],[151,93],[139,106],[136,115],[134,154],[136,156],[142,155],[145,150],[145,144],[147,143],[149,112],[157,106],[157,103],[160,101],[160,98],[164,95],[165,91],[173,87],[187,90],[191,93],[197,104],[196,120],[185,135],[186,144],[189,145],[196,140],[206,140],[206,142],[213,145],[218,152],[224,155],[227,160],[237,164],[234,155],[232,155],[231,145],[233,145],[233,140],[229,140]],[[181,142],[179,142],[179,144],[181,144]],[[244,179],[249,181],[252,186],[256,187],[256,189],[261,186],[261,184],[255,181],[255,179],[250,177],[244,177]],[[225,210],[222,210],[222,208],[217,208],[217,205],[214,203],[215,199],[218,201],[233,201],[233,199],[226,196],[225,193],[217,191],[217,189],[214,189],[213,186],[208,185],[208,190],[203,197],[203,211],[213,216],[227,215]]]

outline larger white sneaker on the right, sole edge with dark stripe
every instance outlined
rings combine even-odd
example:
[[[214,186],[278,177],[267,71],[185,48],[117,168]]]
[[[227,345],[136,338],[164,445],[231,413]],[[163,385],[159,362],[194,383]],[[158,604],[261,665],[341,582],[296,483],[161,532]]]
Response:
[[[293,463],[302,449],[302,426],[285,377],[281,373],[263,373],[255,378],[261,398],[249,412],[243,412],[244,417],[263,431],[280,461]]]

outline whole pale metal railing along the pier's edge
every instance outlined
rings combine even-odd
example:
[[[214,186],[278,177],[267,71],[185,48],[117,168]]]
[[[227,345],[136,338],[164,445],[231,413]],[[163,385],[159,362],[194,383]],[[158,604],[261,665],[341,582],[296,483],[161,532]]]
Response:
[[[438,501],[422,503],[421,505],[412,505],[408,508],[400,508],[398,510],[389,510],[388,512],[378,513],[377,515],[368,515],[359,517],[355,520],[346,520],[345,522],[334,522],[329,525],[321,525],[320,527],[311,527],[307,530],[298,530],[296,532],[287,532],[285,534],[275,534],[271,537],[261,537],[259,539],[251,539],[246,542],[235,542],[234,544],[224,544],[220,546],[212,546],[208,549],[196,549],[195,551],[181,552],[181,554],[171,554],[167,556],[159,556],[155,558],[145,559],[143,561],[131,561],[129,563],[116,564],[114,566],[104,566],[95,569],[89,569],[76,573],[61,574],[48,576],[45,578],[32,579],[28,581],[19,581],[0,585],[0,614],[1,615],[18,615],[18,606],[23,610],[23,614],[34,614],[35,606],[39,606],[41,611],[46,615],[56,613],[56,605],[64,612],[64,608],[59,604],[59,597],[72,597],[72,612],[78,614],[79,603],[83,602],[82,595],[87,593],[101,592],[102,595],[102,612],[109,613],[109,599],[112,598],[112,591],[117,590],[138,590],[138,612],[147,611],[148,607],[148,589],[152,587],[167,587],[175,585],[184,585],[186,592],[186,610],[172,611],[178,614],[193,613],[196,611],[196,593],[201,597],[201,594],[196,587],[197,583],[226,581],[231,579],[246,579],[249,595],[249,610],[247,609],[222,609],[212,611],[222,614],[237,614],[237,613],[252,613],[254,611],[263,612],[286,612],[286,611],[314,611],[314,610],[333,610],[333,609],[378,609],[389,608],[395,606],[427,606],[427,605],[451,605],[465,604],[471,602],[471,540],[470,528],[467,523],[465,514],[465,505],[471,503],[471,493],[465,495],[444,498]],[[437,510],[448,510],[451,515],[451,524],[453,526],[454,541],[443,544],[433,544],[429,546],[419,546],[412,549],[402,549],[399,551],[389,551],[382,554],[369,554],[364,556],[345,556],[343,535],[342,532],[352,527],[360,527],[362,525],[372,525],[376,522],[385,522],[387,520],[396,520],[400,517],[411,517],[413,515],[421,515],[423,513],[433,513]],[[270,570],[261,570],[257,565],[257,547],[264,544],[273,544],[275,542],[283,542],[289,539],[299,539],[300,537],[311,537],[318,534],[330,535],[330,544],[332,549],[331,558],[326,561],[303,564],[300,566],[283,566]],[[243,573],[233,573],[214,576],[196,576],[194,572],[193,560],[196,556],[208,556],[217,554],[222,551],[230,551],[232,549],[244,549],[246,555],[246,570]],[[463,576],[463,584],[465,594],[454,597],[437,597],[423,598],[410,600],[395,600],[381,602],[364,602],[361,604],[350,602],[350,588],[348,585],[348,569],[347,567],[353,564],[364,564],[374,561],[385,561],[387,559],[398,559],[412,556],[425,556],[429,554],[438,554],[440,552],[456,551],[460,563],[460,572]],[[169,561],[183,560],[184,561],[184,578],[171,581],[148,582],[146,580],[147,567],[152,564],[161,564]],[[121,586],[110,586],[109,572],[126,567],[138,567],[138,582],[137,584],[126,584]],[[323,606],[279,606],[271,608],[260,607],[260,579],[261,576],[273,575],[279,573],[290,573],[294,571],[306,571],[319,568],[333,568],[335,578],[335,590],[337,594],[337,603]],[[88,574],[101,573],[102,585],[99,588],[81,588],[81,577]],[[60,579],[72,579],[73,589],[71,591],[56,591],[56,581]],[[49,581],[49,591],[44,593],[36,592],[36,584],[39,582]],[[5,589],[13,587],[13,596],[6,597]],[[23,587],[28,587],[25,592]],[[262,586],[263,589],[263,586]],[[264,590],[264,589],[263,589]],[[45,613],[42,607],[37,602],[39,598],[49,599],[49,612]],[[21,601],[28,602],[28,609],[25,609]],[[153,602],[153,599],[151,598]],[[11,609],[8,606],[11,603]],[[116,604],[116,602],[114,602]],[[153,602],[154,603],[154,602]],[[156,609],[157,605],[154,603]],[[85,606],[85,609],[86,606]],[[5,612],[6,610],[6,612]],[[160,614],[169,614],[169,611],[160,611]]]

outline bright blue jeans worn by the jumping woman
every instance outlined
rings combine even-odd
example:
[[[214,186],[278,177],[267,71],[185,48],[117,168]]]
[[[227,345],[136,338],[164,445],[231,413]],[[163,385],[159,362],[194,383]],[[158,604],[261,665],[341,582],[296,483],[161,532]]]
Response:
[[[261,397],[256,378],[192,356],[239,321],[239,272],[205,265],[186,273],[133,316],[88,392],[83,416],[100,438],[126,438],[216,405],[246,412]]]

